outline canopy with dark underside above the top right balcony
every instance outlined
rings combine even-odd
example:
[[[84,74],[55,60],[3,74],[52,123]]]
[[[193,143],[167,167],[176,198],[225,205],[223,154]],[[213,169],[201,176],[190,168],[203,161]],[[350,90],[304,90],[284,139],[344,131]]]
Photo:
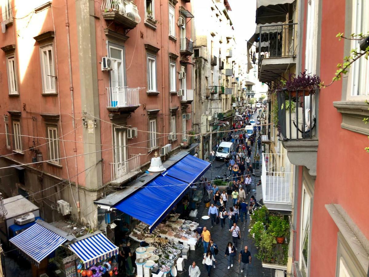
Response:
[[[256,24],[285,22],[289,4],[294,0],[258,0]]]

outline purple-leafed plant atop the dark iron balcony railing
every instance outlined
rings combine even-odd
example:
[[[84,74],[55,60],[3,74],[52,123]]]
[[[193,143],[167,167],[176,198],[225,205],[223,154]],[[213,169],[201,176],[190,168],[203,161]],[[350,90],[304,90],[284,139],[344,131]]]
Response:
[[[315,74],[309,75],[305,70],[297,77],[296,74],[291,74],[285,87],[288,91],[310,90],[314,93],[315,90],[319,88],[319,85],[320,77]]]

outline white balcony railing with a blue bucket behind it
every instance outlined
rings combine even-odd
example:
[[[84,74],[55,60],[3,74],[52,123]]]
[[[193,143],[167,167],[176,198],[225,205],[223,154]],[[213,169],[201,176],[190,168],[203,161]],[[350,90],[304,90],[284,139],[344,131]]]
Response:
[[[106,89],[108,107],[122,108],[140,105],[138,92],[141,88],[115,87]]]

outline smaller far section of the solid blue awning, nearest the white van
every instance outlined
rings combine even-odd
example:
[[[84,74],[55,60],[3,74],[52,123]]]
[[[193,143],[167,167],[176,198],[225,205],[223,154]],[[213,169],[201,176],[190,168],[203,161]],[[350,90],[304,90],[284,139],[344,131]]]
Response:
[[[188,184],[196,182],[210,167],[210,163],[192,155],[186,155],[165,172],[170,177]]]

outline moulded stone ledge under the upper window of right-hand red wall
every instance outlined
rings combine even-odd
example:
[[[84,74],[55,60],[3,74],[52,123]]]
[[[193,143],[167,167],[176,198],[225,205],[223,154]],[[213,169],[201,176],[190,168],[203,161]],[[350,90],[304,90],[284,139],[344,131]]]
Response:
[[[341,128],[369,136],[369,125],[363,122],[369,116],[369,105],[364,101],[334,101],[333,106],[342,114]]]

